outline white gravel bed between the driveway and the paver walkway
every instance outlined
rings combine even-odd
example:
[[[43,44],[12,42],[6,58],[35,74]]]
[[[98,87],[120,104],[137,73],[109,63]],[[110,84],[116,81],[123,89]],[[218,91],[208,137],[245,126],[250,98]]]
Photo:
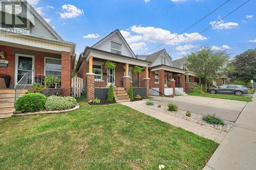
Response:
[[[201,125],[212,127],[212,128],[218,129],[218,130],[225,131],[225,132],[228,132],[231,129],[231,127],[233,126],[232,122],[229,122],[229,121],[226,121],[226,120],[224,120],[224,123],[225,123],[224,126],[209,124],[209,123],[207,123],[203,120],[203,115],[201,115],[201,114],[191,113],[191,116],[188,117],[188,116],[186,116],[186,111],[184,111],[184,110],[168,111],[167,106],[158,107],[156,104],[153,105],[153,106],[148,106],[148,105],[145,105],[145,106],[148,107],[148,108],[154,109],[154,110],[158,110],[158,111],[170,114],[172,116],[183,118],[183,119],[189,120],[191,122],[195,122],[195,123],[198,123],[198,124],[201,124]]]

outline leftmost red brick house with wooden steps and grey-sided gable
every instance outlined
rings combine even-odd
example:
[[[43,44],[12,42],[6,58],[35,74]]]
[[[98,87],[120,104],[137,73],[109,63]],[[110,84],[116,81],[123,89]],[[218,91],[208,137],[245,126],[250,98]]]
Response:
[[[62,88],[69,96],[76,44],[64,41],[26,1],[1,3],[0,74],[11,81],[1,85],[0,114],[12,113],[14,98],[33,83]]]

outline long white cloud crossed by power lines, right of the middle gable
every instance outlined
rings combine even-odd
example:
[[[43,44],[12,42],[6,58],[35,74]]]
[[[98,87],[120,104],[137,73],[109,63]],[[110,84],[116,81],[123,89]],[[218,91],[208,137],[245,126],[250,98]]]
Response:
[[[143,40],[149,41],[149,42],[154,42],[154,43],[166,42],[169,39],[172,39],[178,35],[177,33],[171,33],[168,30],[163,30],[161,28],[155,28],[155,27],[132,26],[132,27],[130,27],[130,30],[132,32],[137,33],[140,36],[142,36]],[[189,40],[190,38],[196,36],[197,34],[198,33],[184,33],[184,34],[177,36],[173,40],[168,41],[166,44],[172,44],[172,45],[178,44],[180,42]],[[191,41],[206,40],[206,39],[207,39],[206,37],[199,35]]]

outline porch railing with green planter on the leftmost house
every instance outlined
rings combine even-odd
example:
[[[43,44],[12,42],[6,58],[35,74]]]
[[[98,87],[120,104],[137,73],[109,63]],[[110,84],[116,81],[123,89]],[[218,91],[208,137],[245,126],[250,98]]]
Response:
[[[14,86],[15,101],[22,94],[23,90],[32,87],[33,84],[40,84],[43,88],[60,88],[61,76],[59,75],[44,75],[44,74],[29,74],[26,72],[18,83]]]

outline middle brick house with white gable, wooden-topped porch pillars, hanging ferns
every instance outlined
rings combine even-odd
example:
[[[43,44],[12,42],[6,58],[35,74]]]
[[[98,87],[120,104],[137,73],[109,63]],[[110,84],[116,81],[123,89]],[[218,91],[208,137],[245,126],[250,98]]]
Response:
[[[105,67],[106,62],[114,63],[115,68]],[[119,30],[98,41],[93,46],[87,46],[78,59],[77,76],[83,79],[87,89],[88,101],[94,99],[106,100],[108,88],[114,86],[117,102],[130,101],[127,96],[130,84],[134,95],[150,95],[150,79],[148,64],[151,62],[138,59]],[[142,74],[133,71],[134,66],[146,70]]]

